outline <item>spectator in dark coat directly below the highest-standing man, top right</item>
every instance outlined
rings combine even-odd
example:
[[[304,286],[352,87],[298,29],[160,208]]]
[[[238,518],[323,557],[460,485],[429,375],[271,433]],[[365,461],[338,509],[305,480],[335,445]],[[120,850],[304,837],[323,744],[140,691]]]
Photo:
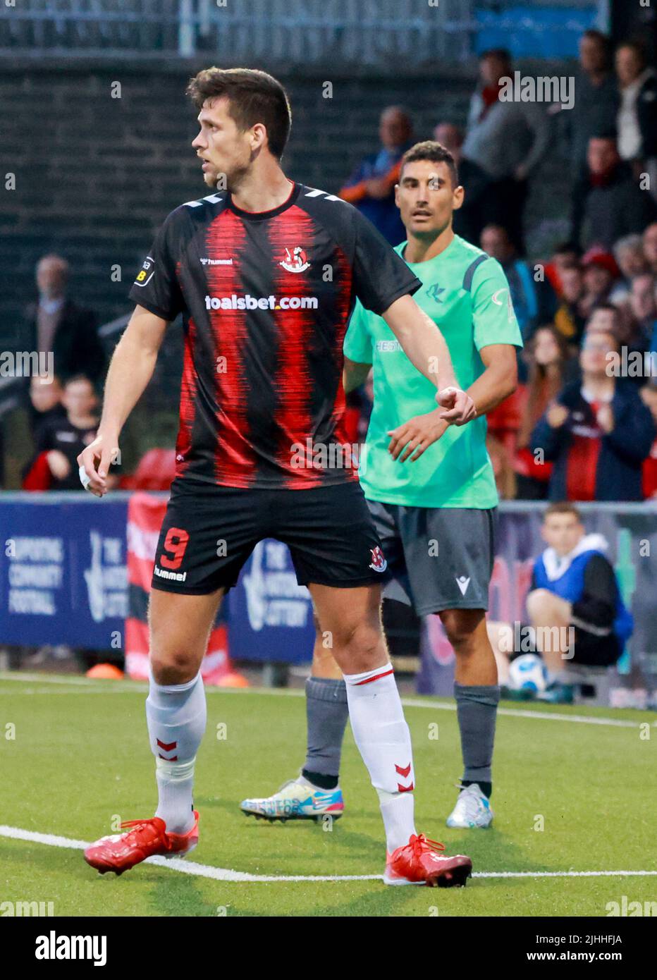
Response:
[[[585,248],[598,245],[608,251],[624,235],[640,234],[654,220],[657,206],[621,161],[614,135],[591,136],[587,164],[573,190],[572,237]]]

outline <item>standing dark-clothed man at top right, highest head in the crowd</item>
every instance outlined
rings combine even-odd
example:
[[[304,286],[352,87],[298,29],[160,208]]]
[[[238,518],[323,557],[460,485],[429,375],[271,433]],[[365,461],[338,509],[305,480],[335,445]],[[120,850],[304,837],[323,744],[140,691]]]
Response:
[[[577,94],[573,108],[563,113],[571,126],[574,179],[586,172],[588,140],[597,133],[614,129],[620,105],[616,79],[611,71],[609,38],[599,30],[585,30],[579,46]]]

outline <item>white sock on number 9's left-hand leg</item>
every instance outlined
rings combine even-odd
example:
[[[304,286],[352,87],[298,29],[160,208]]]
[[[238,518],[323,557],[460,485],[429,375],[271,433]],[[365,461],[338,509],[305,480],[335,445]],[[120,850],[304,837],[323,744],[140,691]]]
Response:
[[[157,766],[156,816],[162,817],[167,832],[184,834],[194,824],[194,763],[206,730],[201,674],[186,684],[166,685],[151,675],[146,718]]]

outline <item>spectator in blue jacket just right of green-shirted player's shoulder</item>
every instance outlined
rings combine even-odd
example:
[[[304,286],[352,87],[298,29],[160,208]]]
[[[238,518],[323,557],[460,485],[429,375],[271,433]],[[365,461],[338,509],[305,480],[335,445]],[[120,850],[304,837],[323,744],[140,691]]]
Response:
[[[500,224],[489,224],[482,231],[481,247],[496,259],[508,279],[511,301],[523,340],[537,324],[552,319],[556,309],[554,291],[544,278],[536,280],[533,270],[518,257],[511,237]]]

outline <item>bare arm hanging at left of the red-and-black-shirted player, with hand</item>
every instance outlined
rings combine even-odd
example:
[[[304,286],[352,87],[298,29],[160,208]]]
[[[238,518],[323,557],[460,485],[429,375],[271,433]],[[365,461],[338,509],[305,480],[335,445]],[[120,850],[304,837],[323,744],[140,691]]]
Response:
[[[115,348],[103,400],[98,434],[77,457],[96,497],[107,493],[107,475],[118,452],[118,436],[153,376],[167,321],[137,306]]]

